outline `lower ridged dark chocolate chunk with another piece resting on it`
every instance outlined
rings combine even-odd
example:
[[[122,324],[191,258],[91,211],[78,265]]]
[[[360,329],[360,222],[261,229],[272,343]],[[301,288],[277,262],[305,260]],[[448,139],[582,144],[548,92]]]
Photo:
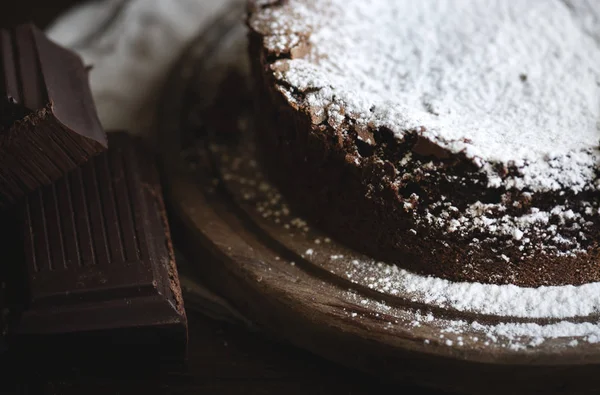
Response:
[[[136,347],[185,353],[187,319],[154,163],[127,134],[109,136],[108,152],[25,200],[27,284],[9,325],[15,350],[79,342],[85,353],[122,357]]]

